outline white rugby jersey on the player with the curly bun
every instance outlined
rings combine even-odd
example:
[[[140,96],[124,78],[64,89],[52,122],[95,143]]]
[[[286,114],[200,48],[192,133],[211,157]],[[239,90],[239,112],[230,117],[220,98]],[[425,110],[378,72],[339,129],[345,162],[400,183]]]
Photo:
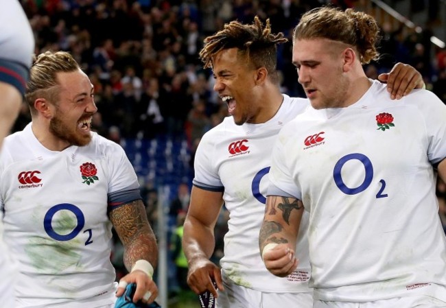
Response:
[[[446,106],[385,84],[348,108],[308,108],[281,130],[268,195],[303,200],[314,298],[373,301],[446,292],[446,240],[436,176],[446,157]],[[282,191],[282,193],[281,193]]]

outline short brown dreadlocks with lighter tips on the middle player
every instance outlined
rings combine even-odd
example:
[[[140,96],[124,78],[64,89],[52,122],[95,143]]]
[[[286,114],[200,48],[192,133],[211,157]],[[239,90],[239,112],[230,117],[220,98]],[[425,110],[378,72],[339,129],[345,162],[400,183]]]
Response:
[[[265,67],[270,78],[277,82],[277,45],[287,42],[282,32],[271,33],[270,19],[266,25],[255,16],[250,25],[231,21],[212,36],[204,39],[204,47],[200,51],[200,59],[204,68],[213,68],[213,56],[224,49],[237,48],[239,55],[246,56],[248,64],[254,69]]]

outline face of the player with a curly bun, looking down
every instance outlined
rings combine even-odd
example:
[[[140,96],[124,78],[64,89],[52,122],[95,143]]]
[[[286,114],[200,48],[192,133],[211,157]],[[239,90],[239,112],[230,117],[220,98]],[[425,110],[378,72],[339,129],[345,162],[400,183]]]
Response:
[[[343,107],[349,81],[342,43],[326,38],[294,40],[292,62],[298,82],[315,109]]]

